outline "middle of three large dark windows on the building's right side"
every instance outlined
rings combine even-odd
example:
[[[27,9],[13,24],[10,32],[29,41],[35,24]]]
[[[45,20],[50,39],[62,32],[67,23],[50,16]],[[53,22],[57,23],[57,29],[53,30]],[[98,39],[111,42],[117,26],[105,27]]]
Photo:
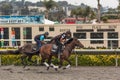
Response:
[[[91,39],[103,39],[103,33],[91,33],[90,34]],[[91,44],[103,44],[103,40],[91,40]]]

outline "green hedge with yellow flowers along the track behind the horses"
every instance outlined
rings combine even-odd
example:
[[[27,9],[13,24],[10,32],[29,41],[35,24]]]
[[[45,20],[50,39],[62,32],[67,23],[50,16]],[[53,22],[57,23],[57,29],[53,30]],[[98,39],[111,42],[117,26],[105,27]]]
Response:
[[[33,56],[32,60],[36,61],[41,58],[38,56]],[[69,58],[72,62],[72,65],[75,65],[75,55],[71,55]],[[118,64],[120,63],[120,57],[118,57]],[[25,60],[27,61],[27,60]],[[53,57],[52,59],[54,64],[58,63],[58,59]],[[2,65],[21,65],[20,55],[2,55]],[[32,63],[27,61],[28,65],[32,65]],[[67,64],[66,61],[63,63]],[[79,66],[114,66],[115,65],[115,55],[78,55],[78,65]]]

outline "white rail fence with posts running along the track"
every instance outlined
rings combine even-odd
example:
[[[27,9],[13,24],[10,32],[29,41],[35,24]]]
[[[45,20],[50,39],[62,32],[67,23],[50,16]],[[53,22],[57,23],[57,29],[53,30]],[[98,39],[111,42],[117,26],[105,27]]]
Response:
[[[112,46],[112,41],[113,40],[118,40],[120,41],[120,39],[79,39],[80,41],[90,41],[90,40],[110,40],[111,42],[111,48],[110,49],[74,49],[74,53],[75,53],[75,64],[76,66],[78,66],[78,55],[82,54],[82,55],[115,55],[115,66],[118,66],[118,56],[120,55],[120,49],[116,48],[113,49]],[[0,40],[2,41],[2,40]],[[11,39],[6,39],[4,41],[12,41]],[[16,41],[34,41],[32,39],[16,39]],[[49,41],[49,39],[46,39],[46,41]],[[119,42],[118,42],[119,43]],[[83,44],[84,45],[84,44]],[[118,44],[119,45],[119,44]],[[91,45],[92,46],[92,45]],[[5,49],[6,50],[6,49]],[[0,66],[1,66],[1,62],[2,62],[2,56],[0,55]]]

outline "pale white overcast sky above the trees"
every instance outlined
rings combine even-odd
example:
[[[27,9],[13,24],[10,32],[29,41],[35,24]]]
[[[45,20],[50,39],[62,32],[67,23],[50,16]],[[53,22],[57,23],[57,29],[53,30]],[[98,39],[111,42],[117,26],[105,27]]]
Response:
[[[40,0],[26,0],[26,1],[37,2]],[[67,1],[68,3],[74,5],[80,5],[81,3],[84,3],[91,7],[97,7],[97,0],[54,0],[54,1]],[[103,7],[108,6],[108,7],[116,8],[118,6],[118,0],[100,0],[100,3],[102,4]]]

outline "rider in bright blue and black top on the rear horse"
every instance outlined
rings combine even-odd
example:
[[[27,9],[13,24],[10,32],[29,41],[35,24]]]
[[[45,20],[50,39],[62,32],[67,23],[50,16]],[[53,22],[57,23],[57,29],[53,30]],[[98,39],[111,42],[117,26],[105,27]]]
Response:
[[[45,32],[44,34],[39,34],[34,37],[34,40],[36,41],[38,48],[42,46],[42,41],[44,41],[45,38],[47,38],[49,35],[48,32]]]

